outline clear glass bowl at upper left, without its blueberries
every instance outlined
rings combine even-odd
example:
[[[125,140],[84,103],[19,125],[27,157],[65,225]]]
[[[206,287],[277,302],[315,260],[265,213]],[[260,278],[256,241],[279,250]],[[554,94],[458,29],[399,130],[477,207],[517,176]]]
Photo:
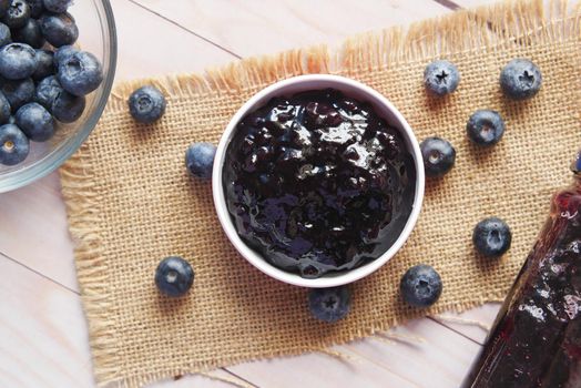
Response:
[[[115,21],[109,0],[75,1],[69,12],[79,25],[77,44],[103,64],[103,82],[86,95],[83,115],[74,123],[59,123],[54,136],[44,143],[30,142],[30,154],[14,166],[0,165],[0,193],[39,180],[57,170],[85,141],[105,108],[116,63]]]

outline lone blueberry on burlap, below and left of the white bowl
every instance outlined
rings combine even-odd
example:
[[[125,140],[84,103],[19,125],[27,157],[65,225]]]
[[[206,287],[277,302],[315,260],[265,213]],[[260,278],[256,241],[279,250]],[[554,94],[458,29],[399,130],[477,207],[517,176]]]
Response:
[[[190,263],[179,256],[165,257],[155,270],[155,285],[167,296],[182,296],[194,283],[194,270]]]

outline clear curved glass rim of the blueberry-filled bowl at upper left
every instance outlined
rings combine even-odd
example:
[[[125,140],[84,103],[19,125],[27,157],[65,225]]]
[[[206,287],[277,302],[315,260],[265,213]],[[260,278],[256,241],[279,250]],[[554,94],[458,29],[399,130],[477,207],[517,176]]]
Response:
[[[104,20],[106,21],[106,24],[103,27],[106,27],[106,30],[101,29],[101,33],[106,33],[109,38],[109,61],[106,63],[108,72],[102,83],[101,98],[98,101],[94,110],[86,118],[83,126],[77,131],[73,136],[60,143],[54,151],[30,166],[8,173],[7,177],[4,177],[8,183],[0,186],[0,193],[7,193],[29,185],[59,169],[67,160],[69,160],[69,157],[72,156],[72,154],[74,154],[81,147],[86,137],[89,137],[89,135],[95,129],[99,120],[103,114],[103,111],[105,110],[111,90],[113,88],[113,81],[115,79],[118,62],[118,35],[115,18],[113,16],[113,9],[111,7],[110,0],[94,0],[94,2],[103,6]],[[101,19],[101,14],[99,14],[99,18]]]

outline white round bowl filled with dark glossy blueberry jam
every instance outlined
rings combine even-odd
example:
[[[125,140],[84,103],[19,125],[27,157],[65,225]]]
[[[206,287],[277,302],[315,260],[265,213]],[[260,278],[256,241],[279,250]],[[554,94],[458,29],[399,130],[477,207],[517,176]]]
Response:
[[[282,282],[333,287],[404,245],[424,198],[412,130],[380,93],[326,74],[251,98],[217,147],[218,219],[251,264]]]

